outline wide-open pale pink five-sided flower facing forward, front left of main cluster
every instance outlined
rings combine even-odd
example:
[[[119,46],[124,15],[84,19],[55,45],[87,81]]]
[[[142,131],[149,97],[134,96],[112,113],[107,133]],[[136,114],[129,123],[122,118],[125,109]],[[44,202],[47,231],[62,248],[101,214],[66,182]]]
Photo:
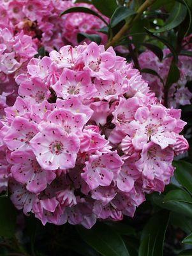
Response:
[[[30,145],[38,163],[47,170],[75,167],[80,140],[75,134],[67,134],[62,128],[50,125],[36,134]]]

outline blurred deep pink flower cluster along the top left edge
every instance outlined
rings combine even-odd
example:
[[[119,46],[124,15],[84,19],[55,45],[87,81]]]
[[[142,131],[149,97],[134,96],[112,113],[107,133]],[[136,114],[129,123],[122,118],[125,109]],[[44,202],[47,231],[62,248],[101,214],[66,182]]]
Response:
[[[98,17],[87,13],[69,13],[60,17],[62,11],[77,6],[98,12],[91,4],[75,4],[71,0],[2,0],[0,25],[6,21],[6,26],[13,27],[14,31],[23,29],[48,51],[54,47],[60,49],[66,44],[77,45],[77,34],[80,32],[100,34],[104,43],[107,36],[98,30],[105,24]]]

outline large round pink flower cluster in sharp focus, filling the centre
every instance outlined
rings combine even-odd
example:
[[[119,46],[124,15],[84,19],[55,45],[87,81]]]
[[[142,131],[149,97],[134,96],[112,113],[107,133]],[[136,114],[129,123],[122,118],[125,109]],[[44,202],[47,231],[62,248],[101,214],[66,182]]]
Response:
[[[31,59],[16,80],[20,96],[1,129],[0,188],[43,225],[91,228],[133,216],[188,149],[181,110],[158,103],[112,47],[64,46]]]

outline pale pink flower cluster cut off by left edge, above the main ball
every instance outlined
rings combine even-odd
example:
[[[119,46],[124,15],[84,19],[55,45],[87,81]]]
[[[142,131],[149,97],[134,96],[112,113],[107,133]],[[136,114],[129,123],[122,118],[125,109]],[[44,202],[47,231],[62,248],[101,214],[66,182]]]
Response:
[[[36,54],[31,36],[21,31],[13,36],[11,29],[0,26],[0,116],[4,107],[12,105],[17,97],[18,86],[15,77],[23,72],[29,59]]]

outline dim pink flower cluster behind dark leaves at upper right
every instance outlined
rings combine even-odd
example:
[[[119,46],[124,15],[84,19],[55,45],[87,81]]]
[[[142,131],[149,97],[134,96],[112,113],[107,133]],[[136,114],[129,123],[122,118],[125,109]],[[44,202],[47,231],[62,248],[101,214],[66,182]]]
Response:
[[[172,57],[167,57],[170,50],[163,50],[163,61],[159,61],[158,57],[151,51],[146,50],[140,54],[138,61],[140,68],[149,68],[159,74],[164,83],[168,77]],[[192,59],[188,56],[179,56],[178,63],[180,71],[180,79],[170,87],[168,94],[169,107],[178,108],[180,105],[190,104],[192,93],[189,91],[186,84],[192,80]],[[143,73],[144,79],[149,83],[150,89],[156,94],[158,99],[163,102],[164,99],[164,86],[159,77],[149,73]]]

